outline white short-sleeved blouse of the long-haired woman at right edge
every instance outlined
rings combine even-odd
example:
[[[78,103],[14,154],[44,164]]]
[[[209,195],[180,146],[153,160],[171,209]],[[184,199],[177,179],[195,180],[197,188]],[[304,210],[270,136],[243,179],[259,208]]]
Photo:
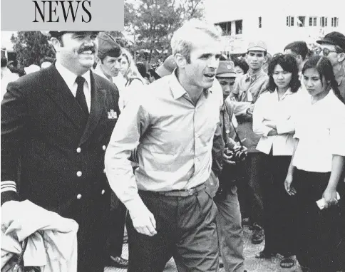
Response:
[[[331,172],[333,155],[345,157],[345,105],[333,90],[299,113],[294,137],[299,139],[293,165],[309,172]]]

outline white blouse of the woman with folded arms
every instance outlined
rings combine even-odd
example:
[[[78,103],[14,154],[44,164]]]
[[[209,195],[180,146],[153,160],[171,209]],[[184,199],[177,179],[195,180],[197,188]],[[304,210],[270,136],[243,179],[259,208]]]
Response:
[[[302,110],[307,100],[301,90],[292,93],[289,88],[282,98],[278,98],[277,90],[262,93],[255,104],[253,113],[253,131],[261,138],[257,150],[269,154],[272,149],[274,156],[291,156],[294,151],[294,129],[296,120],[294,113]],[[272,130],[264,125],[264,121],[273,121],[277,125],[278,135],[267,136]]]

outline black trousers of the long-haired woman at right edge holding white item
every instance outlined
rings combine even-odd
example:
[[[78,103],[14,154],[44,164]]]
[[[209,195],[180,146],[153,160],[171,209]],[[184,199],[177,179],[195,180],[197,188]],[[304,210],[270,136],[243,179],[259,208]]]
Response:
[[[295,169],[292,186],[297,190],[297,259],[311,271],[333,272],[339,269],[341,216],[339,207],[320,210],[321,199],[330,173]]]

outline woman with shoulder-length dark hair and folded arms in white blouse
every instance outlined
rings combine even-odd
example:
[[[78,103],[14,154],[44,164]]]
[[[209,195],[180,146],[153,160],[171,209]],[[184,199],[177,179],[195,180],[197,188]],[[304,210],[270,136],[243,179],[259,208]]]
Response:
[[[264,250],[257,258],[284,256],[280,266],[294,266],[293,215],[291,199],[284,190],[284,179],[294,149],[294,111],[302,107],[299,93],[299,69],[293,56],[277,55],[269,63],[268,91],[257,100],[253,113],[253,131],[262,135],[257,150],[262,152],[260,174],[264,202]]]

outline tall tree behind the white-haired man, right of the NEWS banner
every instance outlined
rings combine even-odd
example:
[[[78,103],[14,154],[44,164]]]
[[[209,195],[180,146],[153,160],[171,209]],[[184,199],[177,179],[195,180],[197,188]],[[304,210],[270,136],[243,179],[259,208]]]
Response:
[[[140,61],[155,62],[170,55],[172,33],[191,18],[203,16],[203,0],[125,1],[125,30],[134,36],[132,51]],[[144,57],[143,57],[144,56]]]

